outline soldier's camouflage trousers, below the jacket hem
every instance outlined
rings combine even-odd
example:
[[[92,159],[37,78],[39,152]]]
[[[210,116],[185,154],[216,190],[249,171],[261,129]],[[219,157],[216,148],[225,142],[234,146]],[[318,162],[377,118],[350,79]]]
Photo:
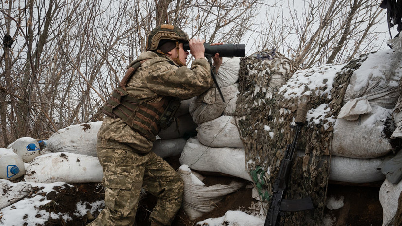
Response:
[[[97,153],[104,173],[105,209],[87,226],[132,226],[141,188],[158,197],[149,220],[171,225],[180,209],[183,181],[155,153],[138,154],[134,151],[123,144],[98,140]]]

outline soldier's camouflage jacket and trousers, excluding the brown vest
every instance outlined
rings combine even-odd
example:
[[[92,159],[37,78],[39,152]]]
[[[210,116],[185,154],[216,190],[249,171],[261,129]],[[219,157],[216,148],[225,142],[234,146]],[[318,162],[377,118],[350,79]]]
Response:
[[[213,83],[205,59],[194,60],[189,69],[179,67],[167,56],[147,51],[129,67],[143,60],[126,87],[130,95],[141,100],[159,102],[163,96],[189,99]],[[151,140],[120,118],[105,117],[97,143],[104,173],[105,209],[89,226],[132,226],[141,188],[159,198],[150,221],[172,223],[181,205],[183,181],[166,161],[150,152],[151,148]]]

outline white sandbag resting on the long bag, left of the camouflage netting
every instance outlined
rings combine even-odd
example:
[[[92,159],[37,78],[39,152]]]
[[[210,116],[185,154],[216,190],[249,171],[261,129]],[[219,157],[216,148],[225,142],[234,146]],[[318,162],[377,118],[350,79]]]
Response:
[[[243,148],[234,116],[221,116],[197,128],[200,143],[210,147]]]

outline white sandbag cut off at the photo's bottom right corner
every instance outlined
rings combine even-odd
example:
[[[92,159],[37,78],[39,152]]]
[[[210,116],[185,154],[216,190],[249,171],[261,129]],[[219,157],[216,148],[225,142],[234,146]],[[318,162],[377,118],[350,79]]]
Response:
[[[383,225],[387,226],[395,217],[398,209],[398,198],[402,191],[402,180],[398,184],[393,184],[385,179],[380,187],[378,198],[383,207]]]

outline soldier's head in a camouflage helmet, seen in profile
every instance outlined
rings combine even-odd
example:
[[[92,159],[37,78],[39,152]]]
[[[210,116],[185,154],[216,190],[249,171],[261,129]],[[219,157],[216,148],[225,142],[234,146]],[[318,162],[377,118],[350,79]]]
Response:
[[[183,43],[187,42],[189,42],[189,36],[180,28],[163,24],[151,31],[145,47],[147,51],[164,54],[178,65],[186,66],[189,52],[183,49]]]

